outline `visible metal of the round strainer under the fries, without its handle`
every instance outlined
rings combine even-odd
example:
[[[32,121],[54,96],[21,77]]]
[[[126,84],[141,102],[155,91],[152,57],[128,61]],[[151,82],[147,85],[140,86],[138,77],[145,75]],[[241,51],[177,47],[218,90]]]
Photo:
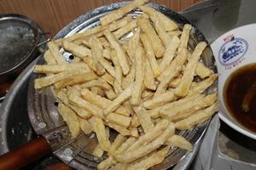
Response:
[[[82,32],[90,29],[91,27],[97,26],[99,24],[99,18],[104,14],[108,14],[109,11],[112,11],[114,8],[119,8],[123,6],[125,3],[113,3],[109,6],[105,6],[102,8],[96,8],[95,10],[90,11],[88,14],[84,14],[80,16],[77,20],[74,20],[71,24],[63,28],[55,38],[60,37],[68,37],[77,32]],[[173,12],[172,10],[159,6],[154,3],[149,4],[151,7],[156,8],[163,14],[166,14],[172,20],[175,20],[180,27],[183,27],[184,24],[189,23],[189,20],[183,18],[180,14]],[[133,11],[130,13],[132,16],[136,17],[139,12]],[[205,37],[201,34],[195,26],[193,26],[190,37],[189,37],[189,47],[195,48],[195,45],[198,42],[206,41]],[[68,59],[68,53],[64,53],[64,57]],[[202,54],[202,60],[206,63],[207,66],[215,69],[214,58],[212,56],[211,48],[207,47],[204,53]],[[38,63],[44,63],[44,59],[41,57],[38,60]],[[95,156],[90,156],[91,150],[90,147],[86,147],[84,145],[84,149],[78,147],[78,145],[74,144],[80,142],[80,139],[72,139],[70,135],[67,135],[67,131],[60,131],[59,128],[65,126],[65,123],[62,121],[61,116],[59,116],[57,112],[57,107],[55,106],[55,97],[51,91],[51,88],[44,88],[42,90],[36,91],[33,88],[33,80],[38,76],[38,74],[32,74],[32,78],[29,85],[28,90],[28,112],[29,117],[32,122],[32,127],[36,131],[36,133],[43,135],[46,139],[49,140],[49,136],[45,135],[45,133],[54,133],[56,140],[49,140],[49,144],[54,145],[55,149],[61,147],[60,150],[56,150],[54,152],[55,156],[57,156],[61,161],[66,162],[72,167],[78,169],[95,169],[96,164],[101,161]],[[215,88],[216,84],[212,87]],[[209,88],[207,93],[211,93],[212,88]],[[42,126],[44,124],[44,126]],[[196,126],[192,130],[179,132],[179,134],[183,135],[186,139],[188,139],[192,144],[196,145],[199,143],[203,133],[207,129],[207,122],[202,123],[201,125]],[[65,134],[63,134],[65,132]],[[111,135],[112,136],[112,135]],[[64,138],[63,138],[64,137]],[[93,139],[82,135],[84,139],[87,139],[87,144],[90,144]],[[81,137],[81,138],[82,138]],[[65,142],[59,140],[64,139]],[[190,152],[189,160],[192,160],[195,156],[197,147],[195,150]],[[70,155],[65,155],[63,150],[69,150]],[[179,150],[177,148],[172,148],[169,156],[166,157],[165,161],[153,167],[153,169],[166,169],[168,167],[172,167],[178,161],[183,159],[188,154],[185,150]],[[188,160],[187,160],[188,161]],[[183,166],[188,164],[183,164]]]

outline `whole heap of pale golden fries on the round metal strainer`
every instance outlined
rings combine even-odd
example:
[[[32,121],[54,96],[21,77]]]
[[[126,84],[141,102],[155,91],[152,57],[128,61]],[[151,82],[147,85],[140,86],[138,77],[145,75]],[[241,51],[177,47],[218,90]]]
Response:
[[[47,64],[34,68],[47,75],[34,87],[53,87],[73,138],[96,133],[92,154],[108,153],[98,169],[148,169],[163,161],[170,147],[191,150],[177,130],[218,111],[217,93],[204,93],[218,77],[201,61],[207,43],[192,51],[192,26],[180,30],[147,2],[135,0],[103,16],[99,26],[48,42]],[[142,14],[131,17],[133,9]],[[71,63],[61,48],[73,54]],[[118,133],[113,141],[109,130]]]

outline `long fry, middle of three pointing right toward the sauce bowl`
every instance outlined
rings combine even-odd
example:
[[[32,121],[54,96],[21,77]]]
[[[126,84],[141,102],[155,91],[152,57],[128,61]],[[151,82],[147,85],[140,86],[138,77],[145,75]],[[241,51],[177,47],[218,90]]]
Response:
[[[207,95],[203,99],[195,100],[194,102],[186,103],[182,108],[177,110],[177,107],[160,110],[160,116],[167,118],[169,121],[179,121],[183,118],[191,116],[195,111],[199,111],[207,106],[213,105],[217,99],[217,94]]]

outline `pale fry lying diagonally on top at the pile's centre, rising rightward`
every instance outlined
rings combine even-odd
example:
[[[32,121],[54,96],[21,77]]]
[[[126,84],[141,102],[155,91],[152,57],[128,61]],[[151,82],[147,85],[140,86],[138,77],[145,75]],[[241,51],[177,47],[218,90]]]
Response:
[[[133,84],[131,84],[128,88],[125,88],[122,94],[120,94],[116,99],[113,99],[113,101],[104,110],[104,115],[107,116],[110,112],[115,111],[117,108],[119,108],[119,105],[125,102],[125,100],[130,99],[132,89]]]

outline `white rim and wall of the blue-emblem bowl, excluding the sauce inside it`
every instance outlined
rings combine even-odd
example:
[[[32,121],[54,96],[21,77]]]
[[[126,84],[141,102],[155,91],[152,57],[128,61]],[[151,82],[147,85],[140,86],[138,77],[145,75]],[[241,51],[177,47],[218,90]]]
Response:
[[[239,48],[237,54],[227,49],[230,47]],[[247,129],[237,122],[230,115],[224,105],[223,88],[224,82],[230,74],[243,65],[256,63],[256,24],[241,26],[234,30],[226,32],[217,40],[212,42],[212,51],[216,59],[218,67],[218,99],[220,103],[220,111],[218,116],[221,120],[234,128],[239,133],[246,135],[252,139],[256,139],[256,133]]]

